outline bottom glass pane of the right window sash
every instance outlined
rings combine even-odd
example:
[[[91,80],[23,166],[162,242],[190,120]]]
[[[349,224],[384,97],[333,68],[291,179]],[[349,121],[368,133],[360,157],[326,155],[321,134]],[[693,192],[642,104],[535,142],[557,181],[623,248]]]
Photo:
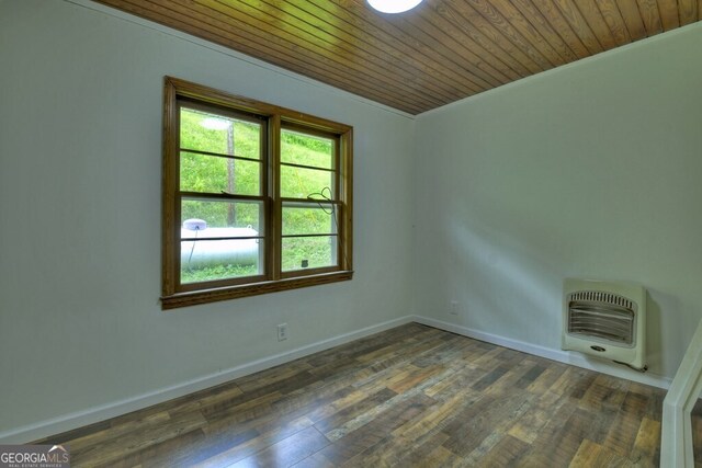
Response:
[[[337,264],[337,237],[283,238],[283,271],[317,269]]]

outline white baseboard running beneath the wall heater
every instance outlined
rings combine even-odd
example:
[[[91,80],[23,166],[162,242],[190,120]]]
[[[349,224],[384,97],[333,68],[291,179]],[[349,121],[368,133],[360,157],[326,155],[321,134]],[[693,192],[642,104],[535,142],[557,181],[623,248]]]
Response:
[[[455,323],[431,319],[429,317],[414,316],[412,321],[450,331],[452,333],[462,334],[475,340],[480,340],[487,343],[497,344],[499,346],[509,347],[510,350],[517,350],[523,353],[533,354],[535,356],[545,357],[547,359],[557,361],[559,363],[570,364],[577,367],[596,370],[614,377],[634,380],[639,384],[650,385],[666,390],[670,387],[670,378],[668,377],[652,373],[639,373],[619,364],[609,363],[608,361],[590,359],[579,353],[571,353],[568,351],[540,346],[537,344],[524,343],[523,341],[486,333],[467,327],[457,326]]]

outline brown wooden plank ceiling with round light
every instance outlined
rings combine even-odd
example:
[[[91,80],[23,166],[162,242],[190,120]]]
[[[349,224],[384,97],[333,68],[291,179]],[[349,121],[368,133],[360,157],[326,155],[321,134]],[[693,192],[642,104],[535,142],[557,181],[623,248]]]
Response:
[[[702,0],[95,0],[409,114],[702,19]]]

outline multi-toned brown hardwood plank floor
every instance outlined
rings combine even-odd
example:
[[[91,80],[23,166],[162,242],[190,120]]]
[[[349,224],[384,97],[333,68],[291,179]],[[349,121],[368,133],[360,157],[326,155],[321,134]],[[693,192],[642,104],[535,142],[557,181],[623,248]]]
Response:
[[[664,396],[410,323],[41,442],[76,467],[654,467]]]

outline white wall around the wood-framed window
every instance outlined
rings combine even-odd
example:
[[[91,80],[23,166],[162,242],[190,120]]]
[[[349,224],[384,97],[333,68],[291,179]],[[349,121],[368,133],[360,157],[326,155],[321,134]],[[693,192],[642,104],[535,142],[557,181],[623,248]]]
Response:
[[[87,0],[0,2],[0,435],[410,312],[411,117]],[[166,75],[354,126],[353,281],[161,311]]]

